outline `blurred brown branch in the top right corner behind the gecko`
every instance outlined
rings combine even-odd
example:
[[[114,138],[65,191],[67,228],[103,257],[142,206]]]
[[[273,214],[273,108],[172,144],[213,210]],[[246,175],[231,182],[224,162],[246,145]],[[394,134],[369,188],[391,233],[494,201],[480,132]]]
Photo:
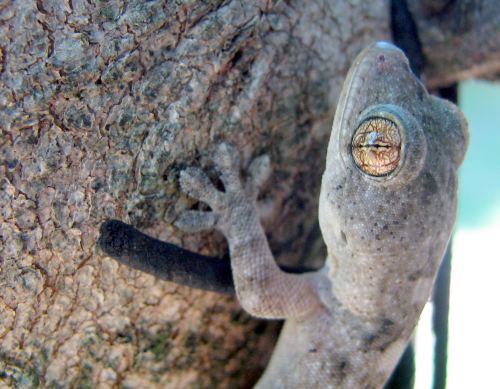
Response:
[[[429,87],[500,72],[498,1],[422,0],[408,5],[427,59]]]

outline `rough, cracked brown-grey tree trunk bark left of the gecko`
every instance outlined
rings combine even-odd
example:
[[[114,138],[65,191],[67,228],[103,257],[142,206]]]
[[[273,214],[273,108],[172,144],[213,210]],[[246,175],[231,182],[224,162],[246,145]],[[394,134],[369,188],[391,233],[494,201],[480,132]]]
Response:
[[[0,2],[0,385],[251,386],[279,323],[119,266],[99,225],[224,253],[172,222],[193,205],[179,171],[226,140],[271,156],[278,260],[311,257],[340,86],[379,39],[384,0]]]

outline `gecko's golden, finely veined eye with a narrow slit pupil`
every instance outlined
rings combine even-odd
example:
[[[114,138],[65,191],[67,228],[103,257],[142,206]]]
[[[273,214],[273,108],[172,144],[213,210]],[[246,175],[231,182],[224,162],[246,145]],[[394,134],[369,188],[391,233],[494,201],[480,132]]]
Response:
[[[366,174],[387,176],[401,160],[401,133],[398,125],[383,117],[364,120],[351,142],[354,162]]]

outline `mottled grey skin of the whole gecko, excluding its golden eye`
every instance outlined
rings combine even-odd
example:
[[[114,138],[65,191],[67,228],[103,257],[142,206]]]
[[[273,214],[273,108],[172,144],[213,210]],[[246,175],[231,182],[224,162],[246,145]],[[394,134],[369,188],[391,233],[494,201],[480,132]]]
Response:
[[[354,131],[367,117],[389,118],[401,131],[400,163],[383,177],[364,173],[351,155]],[[449,241],[467,139],[458,109],[427,93],[398,48],[366,48],[344,84],[328,146],[319,206],[326,265],[302,275],[277,267],[259,222],[268,158],[257,158],[242,181],[238,153],[222,144],[214,163],[224,191],[199,169],[181,174],[183,190],[211,212],[188,211],[177,225],[222,231],[243,308],[287,319],[257,388],[384,384]]]

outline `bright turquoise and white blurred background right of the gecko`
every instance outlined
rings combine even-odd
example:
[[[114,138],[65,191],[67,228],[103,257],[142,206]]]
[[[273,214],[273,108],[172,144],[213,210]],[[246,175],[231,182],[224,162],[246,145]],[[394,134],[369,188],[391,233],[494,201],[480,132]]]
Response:
[[[460,84],[470,125],[453,237],[447,388],[500,388],[500,84]],[[417,333],[418,389],[432,388],[432,307]]]

